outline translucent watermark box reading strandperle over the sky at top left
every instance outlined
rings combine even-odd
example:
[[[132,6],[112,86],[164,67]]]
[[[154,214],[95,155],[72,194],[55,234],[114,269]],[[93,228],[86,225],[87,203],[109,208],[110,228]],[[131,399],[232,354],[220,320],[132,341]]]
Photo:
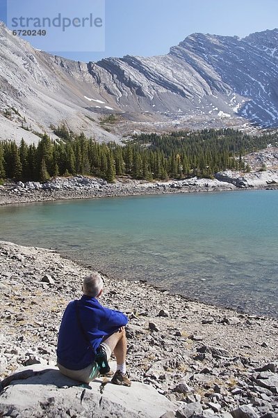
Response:
[[[46,52],[104,52],[105,0],[6,0],[7,26]]]

